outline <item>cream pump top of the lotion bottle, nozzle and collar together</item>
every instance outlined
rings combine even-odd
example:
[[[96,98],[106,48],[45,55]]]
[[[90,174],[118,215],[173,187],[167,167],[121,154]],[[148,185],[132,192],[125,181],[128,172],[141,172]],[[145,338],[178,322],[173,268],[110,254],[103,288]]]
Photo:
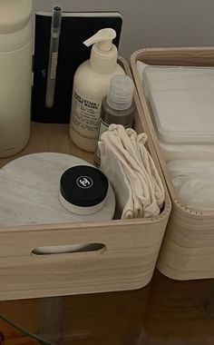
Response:
[[[117,47],[112,44],[116,32],[112,28],[99,30],[83,42],[92,46],[90,64],[94,71],[102,74],[113,73],[117,64]]]

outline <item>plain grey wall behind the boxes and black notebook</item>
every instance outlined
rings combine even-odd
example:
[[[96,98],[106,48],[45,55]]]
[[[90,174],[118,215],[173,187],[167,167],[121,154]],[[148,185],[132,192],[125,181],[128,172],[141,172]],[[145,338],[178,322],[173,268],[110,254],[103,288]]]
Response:
[[[113,11],[123,16],[120,54],[141,47],[214,45],[214,0],[34,0],[34,11]]]

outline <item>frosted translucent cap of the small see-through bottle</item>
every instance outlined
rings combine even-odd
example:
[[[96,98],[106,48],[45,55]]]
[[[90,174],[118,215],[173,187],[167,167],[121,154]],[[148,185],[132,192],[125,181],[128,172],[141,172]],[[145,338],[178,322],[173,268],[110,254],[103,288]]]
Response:
[[[110,81],[107,104],[116,110],[125,110],[131,107],[134,84],[128,75],[113,75]]]

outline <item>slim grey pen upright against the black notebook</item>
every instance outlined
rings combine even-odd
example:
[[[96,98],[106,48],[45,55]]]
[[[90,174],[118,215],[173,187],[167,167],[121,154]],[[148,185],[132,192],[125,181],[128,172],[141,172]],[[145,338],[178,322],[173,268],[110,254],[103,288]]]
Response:
[[[48,74],[47,74],[46,96],[45,96],[46,108],[53,108],[53,104],[54,104],[55,78],[56,78],[57,61],[58,61],[61,21],[62,21],[62,8],[61,6],[56,5],[53,7],[53,14],[52,14],[49,63],[48,63]]]

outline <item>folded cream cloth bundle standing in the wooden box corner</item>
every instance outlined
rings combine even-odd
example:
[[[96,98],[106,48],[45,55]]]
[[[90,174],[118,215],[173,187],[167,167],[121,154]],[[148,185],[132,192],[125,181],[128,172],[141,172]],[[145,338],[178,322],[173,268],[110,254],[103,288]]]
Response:
[[[117,216],[122,219],[157,216],[164,202],[163,185],[146,141],[145,133],[137,135],[131,128],[111,124],[99,142],[101,170],[112,183]]]

